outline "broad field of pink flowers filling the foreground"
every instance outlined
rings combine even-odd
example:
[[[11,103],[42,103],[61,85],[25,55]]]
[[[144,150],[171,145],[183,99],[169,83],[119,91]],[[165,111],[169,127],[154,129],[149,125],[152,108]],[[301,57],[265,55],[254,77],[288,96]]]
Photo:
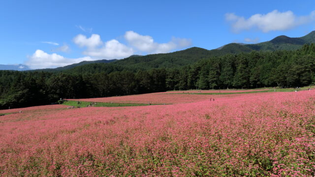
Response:
[[[178,104],[1,116],[0,176],[315,175],[315,90],[97,99]]]

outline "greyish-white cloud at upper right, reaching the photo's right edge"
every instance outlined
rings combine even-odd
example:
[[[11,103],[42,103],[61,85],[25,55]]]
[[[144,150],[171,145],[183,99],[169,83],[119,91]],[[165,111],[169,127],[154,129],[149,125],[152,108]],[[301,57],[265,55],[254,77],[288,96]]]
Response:
[[[263,32],[287,30],[315,21],[315,10],[307,16],[296,16],[292,11],[279,12],[273,10],[267,14],[254,14],[245,19],[234,13],[226,13],[225,20],[231,23],[234,32],[259,29]]]

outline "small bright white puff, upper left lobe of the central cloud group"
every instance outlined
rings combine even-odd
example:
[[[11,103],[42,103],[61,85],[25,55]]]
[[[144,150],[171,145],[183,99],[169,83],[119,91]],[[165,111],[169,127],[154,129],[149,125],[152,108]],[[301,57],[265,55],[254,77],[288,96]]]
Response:
[[[87,38],[85,35],[79,34],[73,38],[73,42],[80,47],[94,48],[99,45],[102,45],[102,41],[98,34],[92,34],[90,38]]]

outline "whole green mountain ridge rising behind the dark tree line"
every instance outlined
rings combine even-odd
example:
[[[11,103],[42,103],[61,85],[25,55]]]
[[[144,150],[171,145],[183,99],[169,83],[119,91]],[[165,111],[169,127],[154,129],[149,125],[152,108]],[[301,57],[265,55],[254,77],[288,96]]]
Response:
[[[288,37],[281,35],[275,37],[274,39],[266,42],[261,42],[257,44],[244,44],[244,43],[230,43],[226,44],[218,49],[207,50],[198,47],[192,47],[186,50],[166,53],[166,54],[151,54],[146,56],[132,55],[125,59],[111,59],[111,60],[95,60],[95,61],[82,61],[75,64],[70,64],[63,67],[58,67],[54,69],[37,69],[43,71],[84,71],[89,67],[94,67],[97,70],[105,69],[106,71],[116,71],[123,68],[136,69],[150,69],[150,68],[172,68],[180,67],[187,64],[194,63],[200,59],[222,56],[226,54],[238,54],[242,52],[252,52],[252,51],[276,51],[276,50],[297,50],[300,49],[304,44],[315,43],[315,31],[303,37]],[[98,67],[96,63],[102,63]],[[111,63],[110,65],[104,65],[104,63]],[[86,66],[93,64],[91,66]],[[15,66],[15,65],[14,65]],[[21,67],[21,68],[19,68]],[[13,70],[28,70],[26,66],[16,65]],[[78,68],[79,67],[79,68]],[[77,68],[77,69],[73,69]],[[0,65],[1,69],[1,65]]]

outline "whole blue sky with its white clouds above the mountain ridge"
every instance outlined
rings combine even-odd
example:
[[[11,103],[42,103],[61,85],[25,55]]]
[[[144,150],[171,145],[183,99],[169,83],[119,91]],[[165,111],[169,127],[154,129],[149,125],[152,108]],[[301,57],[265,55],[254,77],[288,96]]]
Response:
[[[313,30],[314,0],[2,0],[0,64],[53,68]]]

